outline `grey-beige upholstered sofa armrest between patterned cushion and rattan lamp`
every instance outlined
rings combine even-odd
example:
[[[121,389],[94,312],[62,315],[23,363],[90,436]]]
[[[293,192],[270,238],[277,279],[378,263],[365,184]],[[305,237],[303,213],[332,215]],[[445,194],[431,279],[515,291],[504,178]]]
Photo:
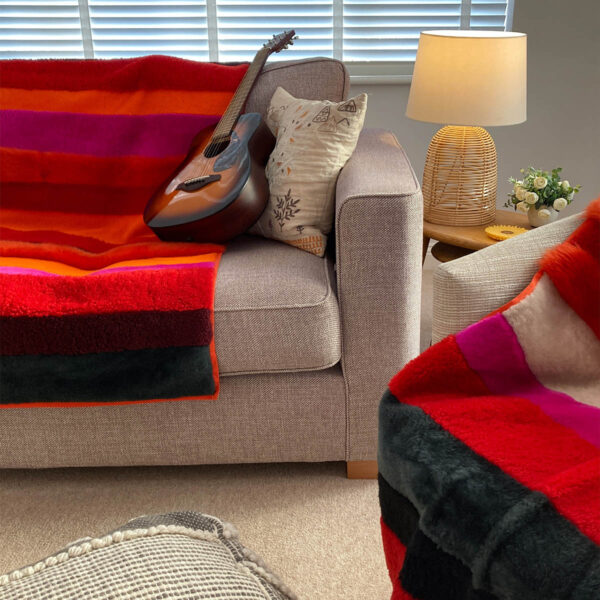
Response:
[[[336,189],[348,461],[372,460],[389,379],[419,352],[423,203],[391,133],[367,129]]]

